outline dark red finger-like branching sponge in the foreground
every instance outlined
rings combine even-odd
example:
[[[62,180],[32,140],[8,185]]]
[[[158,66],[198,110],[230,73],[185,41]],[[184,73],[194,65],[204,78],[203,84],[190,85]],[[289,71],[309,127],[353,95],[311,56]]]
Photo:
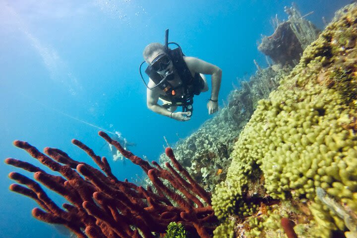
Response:
[[[72,143],[85,151],[101,171],[71,159],[59,149],[47,147],[44,150],[46,155],[23,141],[14,141],[14,145],[61,176],[48,174],[27,162],[12,158],[5,160],[8,165],[34,173],[35,180],[63,196],[70,203],[62,205],[64,210],[48,197],[38,182],[19,173],[12,172],[9,178],[27,187],[11,184],[10,190],[39,204],[43,210],[34,208],[32,215],[35,218],[64,225],[79,238],[154,238],[153,232],[165,233],[170,222],[181,223],[193,236],[211,237],[217,219],[210,206],[210,194],[180,166],[171,148],[166,149],[166,154],[177,171],[169,163],[166,163],[168,169],[163,169],[153,162],[154,168],[122,148],[106,133],[101,131],[99,135],[132,163],[139,165],[158,192],[127,180],[119,181],[112,174],[107,159],[100,158],[78,140],[72,140]],[[169,181],[176,190],[170,190],[163,180]]]

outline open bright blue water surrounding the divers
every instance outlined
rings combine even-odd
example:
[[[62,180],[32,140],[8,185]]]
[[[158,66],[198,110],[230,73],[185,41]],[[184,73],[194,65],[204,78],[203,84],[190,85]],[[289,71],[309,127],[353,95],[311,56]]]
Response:
[[[205,120],[210,93],[194,98],[191,120],[178,122],[146,108],[146,88],[138,74],[142,50],[151,42],[180,44],[187,56],[223,70],[220,106],[255,71],[265,66],[257,51],[261,34],[272,34],[270,19],[286,19],[288,0],[0,0],[0,158],[39,163],[11,143],[28,141],[42,150],[60,148],[72,158],[92,164],[70,143],[76,138],[109,158],[119,179],[141,176],[136,166],[113,162],[101,127],[120,131],[138,156],[157,160],[166,136],[170,144],[188,136]],[[180,3],[179,3],[180,2]],[[307,19],[323,28],[335,10],[350,0],[295,0]],[[210,80],[209,80],[210,83]],[[209,91],[210,92],[210,91]],[[88,123],[95,125],[88,125]],[[0,238],[60,238],[53,226],[37,221],[37,204],[12,193],[7,174],[29,173],[0,167]],[[43,167],[41,167],[43,168]],[[61,204],[62,198],[49,195]]]

